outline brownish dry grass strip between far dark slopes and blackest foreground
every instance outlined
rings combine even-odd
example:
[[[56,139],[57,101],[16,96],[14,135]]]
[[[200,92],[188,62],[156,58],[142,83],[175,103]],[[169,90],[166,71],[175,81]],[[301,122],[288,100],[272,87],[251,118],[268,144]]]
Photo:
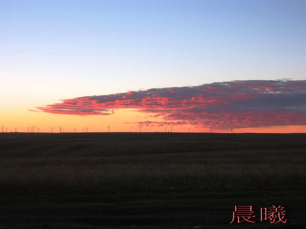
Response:
[[[155,189],[302,188],[306,156],[190,153],[99,158],[1,158],[0,191],[100,192]]]

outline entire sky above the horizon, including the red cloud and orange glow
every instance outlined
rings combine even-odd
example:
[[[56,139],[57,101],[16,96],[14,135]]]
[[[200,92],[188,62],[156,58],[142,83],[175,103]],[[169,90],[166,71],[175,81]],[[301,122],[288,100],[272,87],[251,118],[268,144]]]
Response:
[[[0,31],[0,132],[306,132],[304,0],[0,0]]]

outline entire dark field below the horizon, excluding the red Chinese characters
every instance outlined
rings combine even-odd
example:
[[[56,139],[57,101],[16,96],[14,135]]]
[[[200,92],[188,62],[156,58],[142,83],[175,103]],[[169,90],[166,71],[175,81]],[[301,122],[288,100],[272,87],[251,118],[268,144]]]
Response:
[[[304,228],[305,155],[304,133],[0,133],[0,227]]]

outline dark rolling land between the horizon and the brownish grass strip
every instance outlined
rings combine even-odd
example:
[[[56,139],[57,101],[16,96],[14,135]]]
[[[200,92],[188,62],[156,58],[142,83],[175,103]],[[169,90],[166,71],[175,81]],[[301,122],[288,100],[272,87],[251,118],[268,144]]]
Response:
[[[0,133],[1,156],[101,157],[184,152],[306,152],[306,133]],[[48,148],[48,150],[47,150]]]

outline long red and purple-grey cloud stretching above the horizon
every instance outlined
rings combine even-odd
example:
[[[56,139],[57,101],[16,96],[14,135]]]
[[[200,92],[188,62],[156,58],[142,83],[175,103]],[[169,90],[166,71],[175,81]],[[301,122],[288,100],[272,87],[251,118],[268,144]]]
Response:
[[[111,115],[113,109],[133,108],[166,123],[238,128],[305,125],[305,98],[306,80],[248,80],[85,96],[37,108],[68,115]]]

